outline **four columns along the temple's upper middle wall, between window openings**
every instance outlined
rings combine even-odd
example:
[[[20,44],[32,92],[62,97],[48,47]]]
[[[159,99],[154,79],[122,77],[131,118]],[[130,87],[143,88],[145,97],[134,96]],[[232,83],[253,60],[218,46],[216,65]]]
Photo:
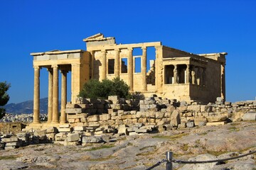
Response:
[[[128,50],[128,86],[130,90],[133,91],[133,73],[134,73],[134,64],[133,64],[133,48],[127,48]],[[120,50],[115,49],[115,57],[114,57],[114,76],[119,77],[120,71]],[[107,78],[107,52],[106,50],[102,50],[102,73],[101,78]],[[142,91],[147,91],[146,85],[146,47],[142,47]]]

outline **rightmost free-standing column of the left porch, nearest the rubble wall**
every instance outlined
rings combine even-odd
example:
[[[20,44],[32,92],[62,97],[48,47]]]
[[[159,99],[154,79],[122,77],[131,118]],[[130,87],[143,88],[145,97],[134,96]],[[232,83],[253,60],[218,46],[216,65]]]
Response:
[[[67,71],[61,70],[61,110],[60,123],[66,123],[65,106],[67,104]]]

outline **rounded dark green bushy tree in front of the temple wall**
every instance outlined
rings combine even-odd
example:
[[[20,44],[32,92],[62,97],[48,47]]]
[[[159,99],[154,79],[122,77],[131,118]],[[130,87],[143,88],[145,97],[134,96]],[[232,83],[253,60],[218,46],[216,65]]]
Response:
[[[119,96],[127,98],[129,96],[129,86],[119,77],[113,80],[104,79],[97,81],[91,79],[83,86],[79,96],[83,98],[107,98],[108,96]]]

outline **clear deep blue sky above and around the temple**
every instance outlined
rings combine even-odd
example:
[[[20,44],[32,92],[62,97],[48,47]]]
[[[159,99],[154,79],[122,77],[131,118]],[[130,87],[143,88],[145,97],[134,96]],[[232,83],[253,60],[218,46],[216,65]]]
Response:
[[[96,33],[117,43],[161,41],[196,54],[228,52],[227,101],[255,99],[256,1],[1,0],[0,81],[11,83],[9,103],[33,99],[31,52],[85,50],[82,39]],[[41,98],[47,89],[43,69]]]

